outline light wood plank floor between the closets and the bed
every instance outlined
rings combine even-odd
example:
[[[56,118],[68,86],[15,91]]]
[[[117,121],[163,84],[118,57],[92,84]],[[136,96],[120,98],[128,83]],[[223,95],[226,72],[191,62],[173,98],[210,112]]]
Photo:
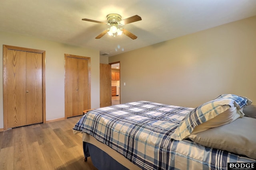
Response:
[[[84,162],[82,134],[72,128],[81,116],[0,132],[1,170],[96,170]]]

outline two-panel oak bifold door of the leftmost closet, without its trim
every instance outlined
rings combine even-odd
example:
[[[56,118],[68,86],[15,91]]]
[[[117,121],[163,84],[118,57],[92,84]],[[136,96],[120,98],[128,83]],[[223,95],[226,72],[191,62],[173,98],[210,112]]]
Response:
[[[42,123],[42,54],[8,49],[7,56],[7,128]]]

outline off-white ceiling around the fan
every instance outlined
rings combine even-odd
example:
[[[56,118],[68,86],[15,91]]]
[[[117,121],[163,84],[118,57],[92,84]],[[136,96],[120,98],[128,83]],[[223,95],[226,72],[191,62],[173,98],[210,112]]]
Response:
[[[256,0],[0,0],[0,31],[18,33],[80,47],[112,56],[162,41],[256,16]],[[142,20],[122,26],[138,36],[108,34],[95,39],[117,13],[122,19]]]

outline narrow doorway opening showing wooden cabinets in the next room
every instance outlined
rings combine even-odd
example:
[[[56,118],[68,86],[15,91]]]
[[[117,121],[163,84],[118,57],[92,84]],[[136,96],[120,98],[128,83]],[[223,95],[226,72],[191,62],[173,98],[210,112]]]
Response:
[[[120,104],[120,62],[111,64],[111,96],[112,106]]]

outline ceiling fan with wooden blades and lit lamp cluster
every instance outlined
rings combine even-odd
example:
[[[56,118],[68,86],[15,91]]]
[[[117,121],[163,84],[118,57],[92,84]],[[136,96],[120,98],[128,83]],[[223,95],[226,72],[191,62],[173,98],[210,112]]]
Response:
[[[103,37],[106,33],[108,33],[108,35],[112,35],[112,36],[116,36],[116,35],[121,35],[122,33],[124,33],[124,35],[130,37],[131,39],[136,39],[137,36],[132,34],[131,32],[127,31],[124,28],[118,28],[118,25],[125,25],[128,23],[132,23],[132,22],[136,22],[136,21],[140,21],[142,20],[140,16],[135,15],[129,18],[126,18],[124,20],[122,20],[122,17],[119,14],[108,14],[107,16],[107,23],[105,22],[101,22],[101,21],[96,21],[96,20],[90,20],[87,18],[82,19],[83,21],[90,21],[90,22],[96,22],[96,23],[101,23],[104,25],[110,25],[111,27],[106,29],[105,31],[103,31],[102,33],[100,33],[100,35],[98,35],[97,37],[95,37],[96,39],[100,39],[101,37]]]

